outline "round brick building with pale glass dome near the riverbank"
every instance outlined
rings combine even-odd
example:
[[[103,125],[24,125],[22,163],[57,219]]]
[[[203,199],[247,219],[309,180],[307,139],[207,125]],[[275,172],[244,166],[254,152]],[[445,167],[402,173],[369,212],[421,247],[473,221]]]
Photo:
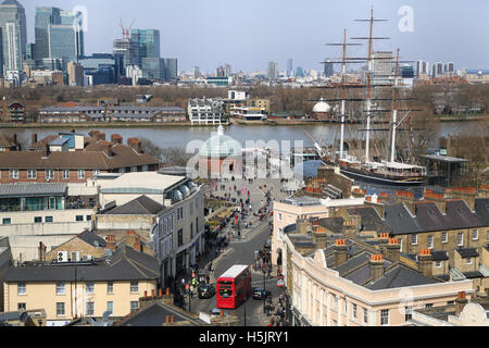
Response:
[[[199,174],[202,178],[231,177],[242,174],[241,144],[224,135],[222,125],[217,128],[217,134],[200,148]]]

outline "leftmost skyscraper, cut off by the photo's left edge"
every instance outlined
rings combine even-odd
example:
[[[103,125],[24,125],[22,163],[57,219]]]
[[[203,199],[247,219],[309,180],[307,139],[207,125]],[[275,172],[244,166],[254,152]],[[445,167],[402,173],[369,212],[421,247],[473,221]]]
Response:
[[[22,71],[26,53],[27,28],[24,7],[16,0],[5,0],[0,4],[0,29],[2,71]]]

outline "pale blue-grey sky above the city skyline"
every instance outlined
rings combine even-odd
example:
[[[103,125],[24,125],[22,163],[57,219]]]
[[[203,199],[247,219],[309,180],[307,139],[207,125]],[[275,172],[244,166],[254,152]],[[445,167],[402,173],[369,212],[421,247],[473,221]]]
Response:
[[[163,58],[177,58],[179,71],[211,73],[225,63],[233,71],[266,71],[275,61],[287,69],[322,70],[325,58],[341,49],[328,47],[348,37],[367,36],[368,25],[355,22],[375,16],[374,49],[401,49],[404,60],[454,62],[455,70],[489,69],[489,1],[487,0],[18,0],[27,15],[27,37],[34,42],[36,7],[86,9],[86,54],[112,52],[122,37],[120,20],[133,28],[160,30]],[[404,7],[404,8],[403,8]],[[408,7],[408,11],[404,10]],[[412,13],[412,15],[410,15]],[[353,40],[351,40],[353,41]],[[355,40],[359,42],[359,40]],[[366,47],[350,49],[365,57]]]

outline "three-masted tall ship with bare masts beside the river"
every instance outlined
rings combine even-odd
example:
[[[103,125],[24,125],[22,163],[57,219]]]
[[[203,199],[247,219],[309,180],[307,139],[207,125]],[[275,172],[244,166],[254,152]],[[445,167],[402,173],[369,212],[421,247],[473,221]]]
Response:
[[[397,156],[397,133],[399,130],[400,125],[404,123],[405,120],[409,120],[413,109],[403,110],[399,105],[403,99],[400,96],[400,88],[402,88],[400,84],[400,57],[399,49],[397,50],[397,58],[393,61],[392,54],[374,54],[373,42],[374,40],[388,39],[384,37],[374,37],[373,28],[375,22],[384,22],[385,20],[376,20],[374,18],[374,9],[372,8],[372,14],[369,20],[356,20],[360,22],[368,22],[369,23],[369,35],[368,37],[359,37],[352,39],[363,39],[368,41],[368,52],[366,58],[349,58],[347,57],[347,47],[348,46],[361,46],[361,44],[347,44],[347,30],[343,34],[343,41],[341,44],[328,44],[330,46],[341,46],[342,47],[342,59],[341,61],[335,62],[341,64],[341,97],[338,99],[326,99],[329,102],[340,102],[341,111],[341,135],[340,135],[340,145],[339,152],[336,151],[336,146],[333,148],[327,148],[321,146],[309,133],[305,134],[312,139],[314,142],[314,147],[318,152],[319,157],[327,164],[331,164],[335,166],[339,166],[340,172],[353,179],[358,179],[360,182],[374,183],[380,185],[389,185],[389,186],[423,186],[426,183],[427,170],[424,166],[403,163],[400,161],[400,157]],[[378,52],[377,52],[378,53]],[[391,72],[385,75],[378,74],[378,72],[374,71],[374,62],[380,61],[381,64],[392,67],[396,64],[396,72],[392,75]],[[347,64],[351,63],[365,63],[365,97],[363,98],[347,98]],[[379,83],[380,82],[380,83]],[[391,91],[392,98],[378,97],[376,91],[383,89],[383,96],[386,95],[386,89]],[[347,114],[347,102],[360,102],[361,103],[361,119],[364,122],[366,128],[361,129],[365,132],[365,154],[363,156],[353,156],[350,151],[344,151],[344,127],[346,121],[349,116]],[[388,102],[389,108],[380,107],[381,103]],[[399,117],[400,113],[404,113]],[[378,120],[380,115],[389,115],[389,128],[386,129],[373,129],[372,124],[374,120]],[[351,124],[351,120],[348,124]],[[386,159],[381,159],[380,157],[373,157],[371,152],[371,137],[374,130],[385,130],[390,133],[389,137],[389,146],[386,147],[387,154]]]

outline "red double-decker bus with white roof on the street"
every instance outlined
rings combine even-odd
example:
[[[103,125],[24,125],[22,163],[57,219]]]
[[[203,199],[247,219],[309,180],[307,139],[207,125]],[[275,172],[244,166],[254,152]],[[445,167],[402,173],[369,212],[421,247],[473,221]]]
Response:
[[[234,265],[217,278],[217,308],[238,308],[251,296],[250,265]]]

